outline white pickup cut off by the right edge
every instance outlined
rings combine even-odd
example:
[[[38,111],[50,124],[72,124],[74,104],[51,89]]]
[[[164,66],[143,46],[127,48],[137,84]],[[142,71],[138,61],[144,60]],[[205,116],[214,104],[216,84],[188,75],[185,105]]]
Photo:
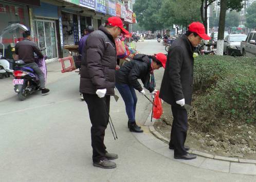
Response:
[[[245,41],[241,42],[241,53],[243,56],[256,56],[256,31],[250,32]]]

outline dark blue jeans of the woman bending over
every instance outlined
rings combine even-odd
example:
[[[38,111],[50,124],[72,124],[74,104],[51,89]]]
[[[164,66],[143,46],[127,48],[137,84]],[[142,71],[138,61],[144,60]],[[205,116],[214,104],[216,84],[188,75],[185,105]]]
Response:
[[[135,89],[132,86],[127,84],[117,84],[116,88],[121,94],[124,104],[126,114],[128,116],[129,122],[135,122],[135,111],[136,111],[136,104],[137,104],[137,96],[135,93]]]

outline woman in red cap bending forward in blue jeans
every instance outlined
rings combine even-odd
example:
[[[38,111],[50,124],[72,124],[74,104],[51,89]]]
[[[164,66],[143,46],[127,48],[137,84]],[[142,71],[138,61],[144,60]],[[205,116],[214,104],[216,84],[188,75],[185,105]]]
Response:
[[[152,95],[156,93],[154,70],[166,66],[167,57],[163,53],[154,56],[145,54],[137,54],[134,59],[125,63],[116,71],[116,88],[121,94],[126,114],[128,116],[128,128],[131,132],[143,132],[135,122],[135,111],[137,104],[137,96],[135,89],[141,94],[145,94],[142,86],[138,82],[141,79],[144,88],[148,89]]]

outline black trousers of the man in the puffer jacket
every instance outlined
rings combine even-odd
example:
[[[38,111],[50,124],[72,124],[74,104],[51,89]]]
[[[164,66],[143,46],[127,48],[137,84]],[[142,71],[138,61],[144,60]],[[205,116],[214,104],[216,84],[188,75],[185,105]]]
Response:
[[[84,100],[87,103],[90,123],[90,134],[93,147],[93,161],[99,162],[105,159],[106,147],[104,145],[105,129],[108,124],[110,95],[99,98],[96,94],[84,94]]]

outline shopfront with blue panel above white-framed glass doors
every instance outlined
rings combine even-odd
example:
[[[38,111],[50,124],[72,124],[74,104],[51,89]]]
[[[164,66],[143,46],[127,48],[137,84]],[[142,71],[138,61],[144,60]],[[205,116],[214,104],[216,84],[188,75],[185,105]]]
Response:
[[[46,48],[43,54],[48,59],[54,60],[59,57],[57,24],[58,24],[58,6],[41,3],[38,8],[33,8],[33,32],[34,41],[39,48]],[[48,60],[49,61],[49,60]]]

